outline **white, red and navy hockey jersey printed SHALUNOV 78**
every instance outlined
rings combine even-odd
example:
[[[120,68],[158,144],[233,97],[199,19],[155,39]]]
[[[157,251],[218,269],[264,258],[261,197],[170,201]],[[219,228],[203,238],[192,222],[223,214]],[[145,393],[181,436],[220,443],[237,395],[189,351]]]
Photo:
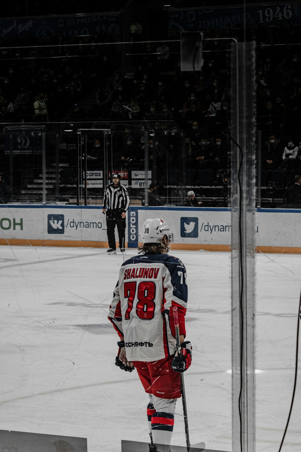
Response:
[[[171,307],[185,336],[186,269],[168,254],[140,254],[121,265],[109,320],[124,337],[129,361],[156,361],[176,351]]]

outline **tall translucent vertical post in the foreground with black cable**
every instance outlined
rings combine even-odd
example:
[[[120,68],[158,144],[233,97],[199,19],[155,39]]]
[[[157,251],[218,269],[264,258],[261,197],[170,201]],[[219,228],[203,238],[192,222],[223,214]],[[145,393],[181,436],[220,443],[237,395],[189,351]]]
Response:
[[[231,47],[232,450],[255,452],[255,43]]]

